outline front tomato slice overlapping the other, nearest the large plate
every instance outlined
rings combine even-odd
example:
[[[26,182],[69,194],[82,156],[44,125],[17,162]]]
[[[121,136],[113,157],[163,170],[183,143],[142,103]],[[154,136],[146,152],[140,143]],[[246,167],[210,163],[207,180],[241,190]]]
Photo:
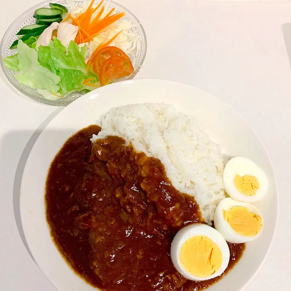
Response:
[[[100,70],[100,84],[104,86],[106,83],[111,83],[116,79],[129,76],[134,71],[132,63],[122,57],[110,57],[103,62]]]

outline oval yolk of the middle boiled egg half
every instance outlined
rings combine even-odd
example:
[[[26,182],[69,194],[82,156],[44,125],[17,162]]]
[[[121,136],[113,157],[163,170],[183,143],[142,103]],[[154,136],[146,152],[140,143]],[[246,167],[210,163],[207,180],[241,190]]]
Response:
[[[232,229],[242,236],[255,236],[263,227],[262,217],[251,213],[248,208],[243,206],[223,210],[223,217]]]

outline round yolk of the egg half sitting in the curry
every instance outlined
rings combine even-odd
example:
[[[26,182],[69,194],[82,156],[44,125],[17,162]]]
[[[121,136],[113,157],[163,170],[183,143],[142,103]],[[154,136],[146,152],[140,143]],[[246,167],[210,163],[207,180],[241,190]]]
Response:
[[[191,275],[205,278],[220,269],[222,254],[208,236],[194,236],[182,245],[180,262]]]

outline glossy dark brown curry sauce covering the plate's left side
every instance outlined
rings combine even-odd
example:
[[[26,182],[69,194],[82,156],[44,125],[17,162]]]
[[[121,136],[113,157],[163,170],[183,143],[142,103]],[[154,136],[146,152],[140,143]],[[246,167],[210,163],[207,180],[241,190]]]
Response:
[[[162,163],[109,136],[90,142],[100,127],[73,135],[52,162],[46,183],[51,235],[72,268],[110,291],[199,290],[221,276],[194,282],[172,264],[175,233],[200,222],[193,197],[177,191]],[[244,244],[229,244],[225,273]]]

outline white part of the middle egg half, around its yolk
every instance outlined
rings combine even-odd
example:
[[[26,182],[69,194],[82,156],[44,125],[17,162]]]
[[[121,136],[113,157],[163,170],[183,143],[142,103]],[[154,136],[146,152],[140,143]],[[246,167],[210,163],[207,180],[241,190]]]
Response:
[[[224,219],[223,210],[227,211],[234,206],[246,207],[247,209],[249,209],[249,211],[251,213],[254,213],[254,214],[262,217],[263,227],[260,230],[260,232],[258,232],[258,234],[256,236],[243,236],[243,235],[235,232],[235,230]],[[252,204],[247,203],[247,202],[236,201],[236,200],[233,200],[232,198],[225,198],[219,202],[218,206],[215,209],[214,227],[222,234],[222,236],[225,238],[225,240],[229,243],[247,243],[247,242],[250,242],[254,239],[257,239],[262,234],[262,231],[264,228],[264,221],[263,221],[262,214]]]

